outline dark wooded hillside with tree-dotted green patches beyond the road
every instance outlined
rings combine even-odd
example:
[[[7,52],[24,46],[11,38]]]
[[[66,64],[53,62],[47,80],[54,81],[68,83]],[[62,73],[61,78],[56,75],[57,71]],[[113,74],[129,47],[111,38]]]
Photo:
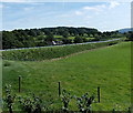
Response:
[[[122,35],[123,34],[119,33],[119,31],[101,32],[91,28],[57,27],[25,30],[18,29],[2,31],[2,49],[44,47],[53,44],[53,41],[59,42],[59,44],[82,43]]]

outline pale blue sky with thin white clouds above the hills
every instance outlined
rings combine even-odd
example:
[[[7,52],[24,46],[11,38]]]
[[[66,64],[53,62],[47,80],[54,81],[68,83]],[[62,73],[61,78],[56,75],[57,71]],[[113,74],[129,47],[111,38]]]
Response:
[[[0,30],[86,27],[113,31],[131,27],[131,2],[27,1],[4,0],[0,3],[2,12]]]

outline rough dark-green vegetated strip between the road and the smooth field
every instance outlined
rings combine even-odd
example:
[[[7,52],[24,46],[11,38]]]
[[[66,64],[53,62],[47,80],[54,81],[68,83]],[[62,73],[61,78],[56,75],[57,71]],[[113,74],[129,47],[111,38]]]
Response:
[[[112,45],[117,42],[119,41],[110,41],[110,42],[101,42],[101,43],[85,43],[85,44],[73,44],[73,45],[71,44],[71,45],[2,51],[2,59],[18,60],[18,61],[50,60],[50,59],[66,56],[69,54],[81,52],[84,50]]]

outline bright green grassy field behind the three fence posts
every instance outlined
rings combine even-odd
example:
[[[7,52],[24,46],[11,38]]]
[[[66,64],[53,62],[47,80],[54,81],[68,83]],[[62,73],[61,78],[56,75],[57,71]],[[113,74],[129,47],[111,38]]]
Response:
[[[22,76],[21,94],[34,93],[45,101],[53,99],[51,109],[61,109],[58,82],[72,95],[90,92],[96,95],[101,88],[101,103],[95,111],[125,110],[131,105],[131,42],[43,61],[3,60],[3,86],[11,84],[18,93],[18,76]],[[95,100],[96,101],[96,100]],[[70,109],[76,110],[74,101]]]

